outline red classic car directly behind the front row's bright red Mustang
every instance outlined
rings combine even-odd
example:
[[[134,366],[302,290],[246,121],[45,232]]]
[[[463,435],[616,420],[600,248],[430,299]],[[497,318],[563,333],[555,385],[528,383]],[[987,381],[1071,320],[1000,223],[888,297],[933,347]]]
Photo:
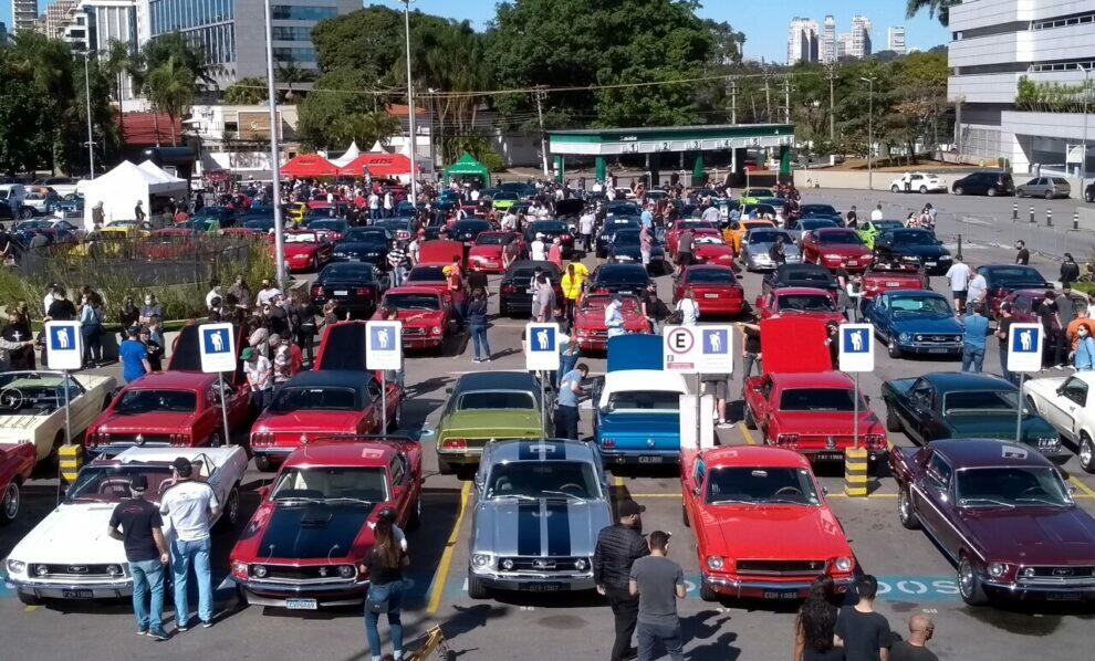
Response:
[[[763,330],[762,330],[763,333]],[[764,443],[815,460],[844,460],[853,447],[855,387],[841,371],[766,374],[745,380],[745,427]],[[859,400],[859,443],[872,459],[886,452],[886,432]]]

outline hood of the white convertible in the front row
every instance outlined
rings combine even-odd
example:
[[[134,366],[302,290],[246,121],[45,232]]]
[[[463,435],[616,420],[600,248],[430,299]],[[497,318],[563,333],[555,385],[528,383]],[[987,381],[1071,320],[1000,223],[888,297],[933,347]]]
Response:
[[[24,563],[124,563],[122,542],[106,534],[115,503],[62,504],[34,526],[10,557]]]

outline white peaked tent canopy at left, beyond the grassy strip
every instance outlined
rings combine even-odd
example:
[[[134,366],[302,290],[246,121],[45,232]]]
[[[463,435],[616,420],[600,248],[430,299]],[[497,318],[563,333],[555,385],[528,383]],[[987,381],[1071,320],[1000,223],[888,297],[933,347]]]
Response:
[[[133,220],[138,201],[144,206],[145,213],[150,213],[154,197],[187,195],[186,180],[171,177],[152,161],[136,166],[123,160],[102,177],[81,183],[84,228],[87,230],[93,229],[92,210],[100,202],[103,203],[103,218],[109,223],[115,220]]]

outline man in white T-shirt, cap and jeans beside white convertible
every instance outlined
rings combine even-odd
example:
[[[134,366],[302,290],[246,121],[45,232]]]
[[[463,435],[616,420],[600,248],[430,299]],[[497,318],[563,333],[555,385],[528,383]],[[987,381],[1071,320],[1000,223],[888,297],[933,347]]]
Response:
[[[212,627],[212,574],[209,569],[211,523],[220,514],[220,502],[212,487],[194,479],[194,464],[179,457],[171,462],[175,484],[164,492],[159,513],[175,531],[171,541],[171,577],[175,583],[175,627],[184,632],[190,623],[187,583],[190,568],[198,581],[198,619]]]

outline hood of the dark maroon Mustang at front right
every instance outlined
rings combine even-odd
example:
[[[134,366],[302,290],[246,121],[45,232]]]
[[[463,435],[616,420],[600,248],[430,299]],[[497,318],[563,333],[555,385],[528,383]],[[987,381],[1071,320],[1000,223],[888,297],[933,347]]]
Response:
[[[962,510],[989,560],[1095,565],[1095,521],[1080,507]]]

